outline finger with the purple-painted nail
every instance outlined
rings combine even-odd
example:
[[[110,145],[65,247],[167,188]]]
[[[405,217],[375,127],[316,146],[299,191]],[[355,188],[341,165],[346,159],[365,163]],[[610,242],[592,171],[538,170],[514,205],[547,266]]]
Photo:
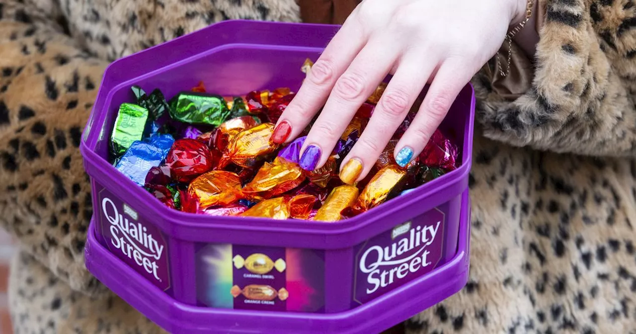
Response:
[[[371,39],[338,78],[301,148],[300,166],[303,169],[314,170],[327,161],[357,109],[375,91],[399,57],[394,49],[390,39]]]

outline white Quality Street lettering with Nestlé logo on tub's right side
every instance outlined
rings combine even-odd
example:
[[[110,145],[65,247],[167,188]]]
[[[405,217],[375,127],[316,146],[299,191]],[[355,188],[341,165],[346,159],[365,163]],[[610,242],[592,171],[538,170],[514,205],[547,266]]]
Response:
[[[434,265],[429,260],[431,253],[427,247],[436,240],[441,221],[432,225],[417,226],[411,228],[411,222],[396,226],[391,237],[403,237],[389,246],[371,246],[364,251],[360,258],[359,268],[364,274],[368,274],[366,281],[370,284],[366,288],[367,295],[374,293],[378,288],[386,288],[398,279],[403,279],[422,268]],[[413,251],[415,253],[413,253]],[[403,254],[409,254],[404,255]]]

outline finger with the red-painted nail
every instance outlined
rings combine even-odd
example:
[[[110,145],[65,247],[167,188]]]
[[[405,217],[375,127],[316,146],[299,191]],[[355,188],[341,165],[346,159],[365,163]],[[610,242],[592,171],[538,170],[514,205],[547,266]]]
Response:
[[[280,115],[272,141],[282,144],[298,136],[321,109],[329,92],[366,43],[358,20],[350,16],[329,41],[300,89]]]

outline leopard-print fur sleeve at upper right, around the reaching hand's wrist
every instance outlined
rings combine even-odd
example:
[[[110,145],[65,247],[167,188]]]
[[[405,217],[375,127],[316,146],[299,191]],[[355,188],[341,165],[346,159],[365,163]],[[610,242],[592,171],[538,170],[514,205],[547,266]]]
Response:
[[[583,155],[636,154],[636,7],[633,0],[550,0],[532,88],[514,102],[478,74],[485,136]]]

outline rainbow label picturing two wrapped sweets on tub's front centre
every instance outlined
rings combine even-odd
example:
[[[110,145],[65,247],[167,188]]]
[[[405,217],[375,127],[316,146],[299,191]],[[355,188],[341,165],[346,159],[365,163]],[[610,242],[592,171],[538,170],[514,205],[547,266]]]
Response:
[[[207,244],[196,258],[200,305],[324,312],[324,251]]]

